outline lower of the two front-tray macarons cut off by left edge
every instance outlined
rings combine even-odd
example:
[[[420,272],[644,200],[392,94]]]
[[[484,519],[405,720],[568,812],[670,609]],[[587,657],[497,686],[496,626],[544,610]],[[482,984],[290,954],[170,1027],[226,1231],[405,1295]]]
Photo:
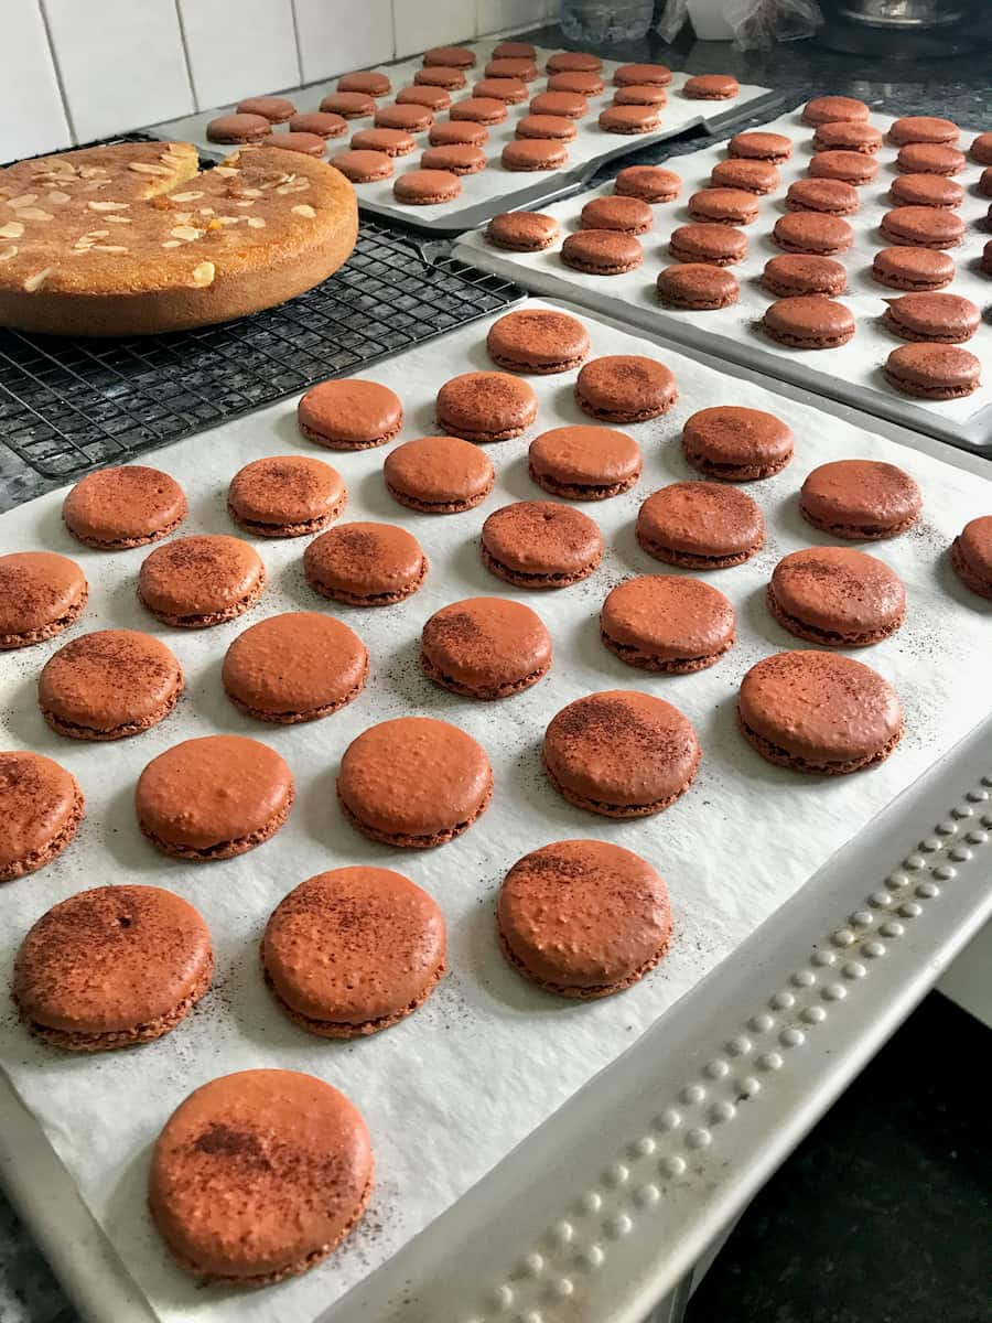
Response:
[[[83,794],[70,771],[40,753],[0,753],[0,882],[57,859],[82,816]]]

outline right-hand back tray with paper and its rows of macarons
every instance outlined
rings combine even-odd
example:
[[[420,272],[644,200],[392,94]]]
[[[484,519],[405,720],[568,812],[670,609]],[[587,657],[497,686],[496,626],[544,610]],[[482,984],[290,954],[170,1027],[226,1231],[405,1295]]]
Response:
[[[497,217],[460,255],[983,450],[989,163],[992,134],[816,97],[671,168]]]

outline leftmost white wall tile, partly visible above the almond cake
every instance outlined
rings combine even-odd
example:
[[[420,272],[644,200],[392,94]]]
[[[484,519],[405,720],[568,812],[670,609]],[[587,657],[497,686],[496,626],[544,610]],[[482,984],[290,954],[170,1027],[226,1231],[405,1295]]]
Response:
[[[69,123],[37,0],[4,0],[0,161],[67,147]]]

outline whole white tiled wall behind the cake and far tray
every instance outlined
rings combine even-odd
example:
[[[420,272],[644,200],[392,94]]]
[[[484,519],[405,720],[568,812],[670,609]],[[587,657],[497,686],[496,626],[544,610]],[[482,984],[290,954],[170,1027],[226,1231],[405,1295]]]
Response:
[[[0,0],[0,160],[557,11],[558,0]]]

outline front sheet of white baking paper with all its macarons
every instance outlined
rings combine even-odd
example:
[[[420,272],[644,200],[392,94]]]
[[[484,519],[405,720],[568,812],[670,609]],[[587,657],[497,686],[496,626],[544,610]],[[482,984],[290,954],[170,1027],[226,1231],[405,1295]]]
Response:
[[[17,1106],[155,1315],[316,1319],[954,757],[989,628],[970,456],[537,300],[9,511]]]

